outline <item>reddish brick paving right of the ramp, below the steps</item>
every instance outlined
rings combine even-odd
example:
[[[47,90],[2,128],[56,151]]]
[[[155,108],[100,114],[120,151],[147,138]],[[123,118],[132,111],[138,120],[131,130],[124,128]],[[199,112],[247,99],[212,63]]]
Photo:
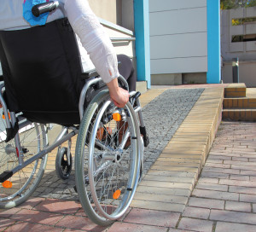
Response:
[[[256,123],[223,122],[178,229],[256,231]]]

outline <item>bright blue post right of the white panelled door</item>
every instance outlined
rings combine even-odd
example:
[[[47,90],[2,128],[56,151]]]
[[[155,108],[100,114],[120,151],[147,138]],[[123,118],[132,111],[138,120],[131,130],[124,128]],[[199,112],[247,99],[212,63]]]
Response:
[[[221,79],[219,0],[207,0],[207,53],[207,83],[218,84]]]

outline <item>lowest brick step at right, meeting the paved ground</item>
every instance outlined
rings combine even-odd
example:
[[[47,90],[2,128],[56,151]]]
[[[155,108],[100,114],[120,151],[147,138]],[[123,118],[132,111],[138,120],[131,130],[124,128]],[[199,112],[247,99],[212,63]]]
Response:
[[[256,108],[254,109],[224,109],[222,119],[231,121],[256,121]]]

